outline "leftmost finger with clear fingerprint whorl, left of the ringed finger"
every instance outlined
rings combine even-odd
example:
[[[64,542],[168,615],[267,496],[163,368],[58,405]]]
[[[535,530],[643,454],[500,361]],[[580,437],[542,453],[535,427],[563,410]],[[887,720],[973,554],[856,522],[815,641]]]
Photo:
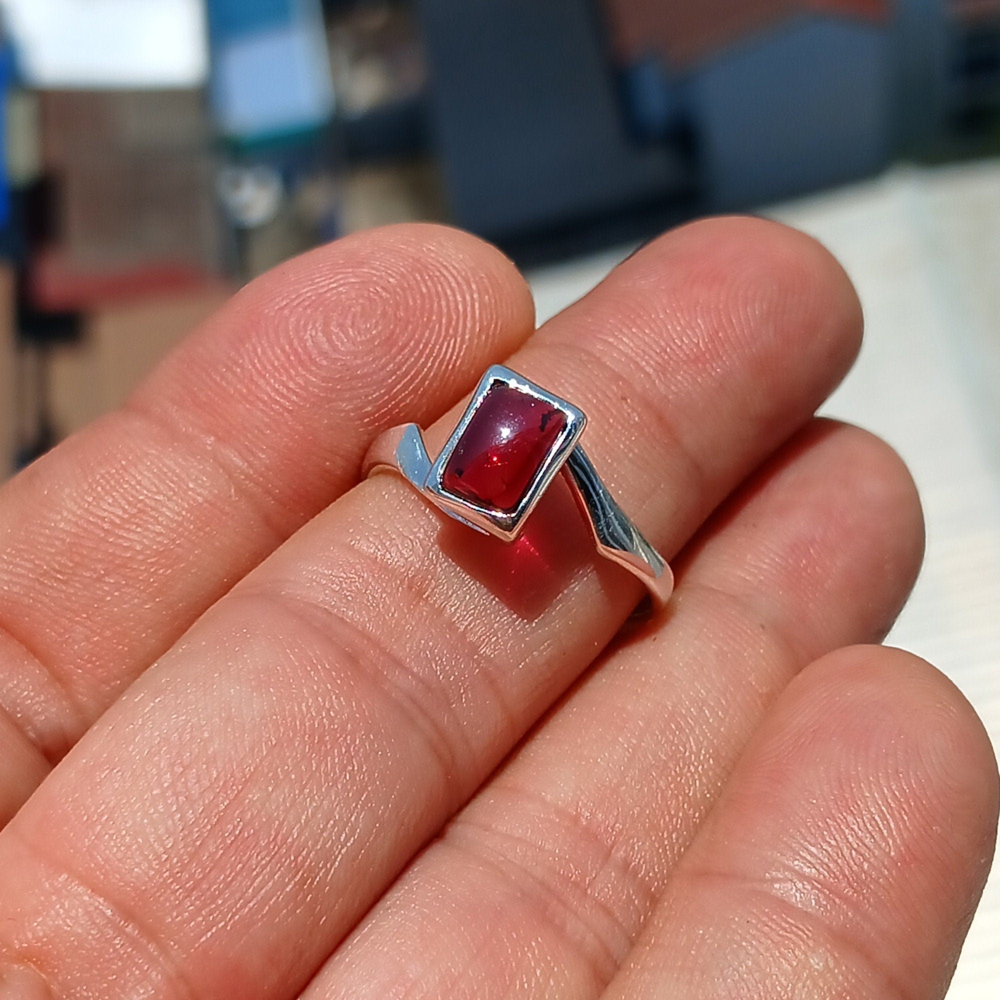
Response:
[[[45,760],[354,484],[380,430],[439,416],[533,319],[514,266],[473,236],[350,237],[245,288],[124,408],[7,484],[0,825]]]

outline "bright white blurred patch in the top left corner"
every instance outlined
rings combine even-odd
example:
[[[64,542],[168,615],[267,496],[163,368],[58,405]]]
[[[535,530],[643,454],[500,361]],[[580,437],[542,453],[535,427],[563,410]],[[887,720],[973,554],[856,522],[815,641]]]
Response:
[[[197,87],[202,0],[0,0],[36,87]]]

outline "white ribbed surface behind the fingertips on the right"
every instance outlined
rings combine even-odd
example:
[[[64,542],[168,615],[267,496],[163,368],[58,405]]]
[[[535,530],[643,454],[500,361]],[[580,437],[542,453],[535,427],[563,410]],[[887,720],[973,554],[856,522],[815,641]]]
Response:
[[[900,169],[768,214],[821,239],[861,295],[861,358],[824,412],[888,440],[923,497],[927,559],[889,642],[958,684],[1000,747],[1000,163]],[[625,251],[533,276],[543,320]],[[1000,870],[949,1000],[1000,997]]]

